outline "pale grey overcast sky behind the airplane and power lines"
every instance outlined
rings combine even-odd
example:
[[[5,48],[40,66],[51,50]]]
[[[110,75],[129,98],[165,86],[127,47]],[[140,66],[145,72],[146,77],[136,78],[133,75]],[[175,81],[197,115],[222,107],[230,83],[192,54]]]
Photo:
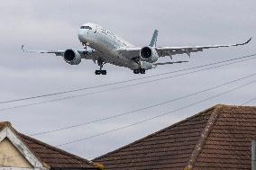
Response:
[[[243,47],[206,49],[204,52],[192,54],[191,58],[186,55],[177,55],[173,60],[189,60],[189,62],[162,66],[146,72],[145,76],[152,76],[256,53],[255,8],[255,0],[1,0],[0,101],[103,85],[143,76],[133,75],[133,72],[127,68],[111,65],[105,65],[105,69],[108,71],[107,76],[95,76],[94,71],[97,66],[92,61],[86,60],[78,66],[70,66],[62,58],[54,55],[24,54],[21,50],[22,44],[29,49],[81,49],[78,28],[84,22],[95,22],[139,47],[149,44],[154,29],[160,31],[159,46],[228,44],[243,42],[254,37],[248,45]],[[168,60],[169,58],[160,59],[160,61]],[[255,73],[255,64],[256,61],[253,59],[188,76],[168,78],[147,85],[135,85],[75,99],[0,111],[0,121],[11,121],[16,130],[26,135],[44,130],[55,130],[129,112],[220,85]],[[53,146],[76,139],[84,139],[105,130],[113,130],[163,112],[178,109],[251,80],[253,79],[246,79],[215,91],[129,114],[118,119],[101,121],[71,130],[61,130],[34,138],[41,139]],[[217,103],[239,105],[256,97],[255,87],[255,84],[248,85],[185,110],[60,148],[80,157],[97,157]],[[86,94],[107,88],[112,87],[20,103],[1,104],[0,109],[70,95]],[[247,105],[256,105],[256,101]]]

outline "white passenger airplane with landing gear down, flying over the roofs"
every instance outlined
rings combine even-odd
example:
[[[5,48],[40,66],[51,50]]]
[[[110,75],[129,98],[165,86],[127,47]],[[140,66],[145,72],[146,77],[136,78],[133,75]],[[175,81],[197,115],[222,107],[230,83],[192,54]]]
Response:
[[[134,74],[145,74],[145,70],[155,68],[160,65],[184,63],[187,61],[173,61],[158,63],[161,57],[169,57],[176,54],[187,54],[191,52],[203,51],[203,49],[231,47],[245,45],[251,41],[230,45],[207,45],[194,47],[157,47],[158,30],[153,32],[151,42],[145,47],[136,47],[129,42],[119,38],[113,32],[105,30],[96,23],[87,22],[78,31],[78,40],[83,45],[83,49],[66,50],[26,50],[22,46],[23,52],[50,53],[64,58],[69,65],[78,65],[81,59],[91,59],[99,66],[95,71],[96,75],[106,75],[103,66],[106,63],[127,67],[133,70]]]

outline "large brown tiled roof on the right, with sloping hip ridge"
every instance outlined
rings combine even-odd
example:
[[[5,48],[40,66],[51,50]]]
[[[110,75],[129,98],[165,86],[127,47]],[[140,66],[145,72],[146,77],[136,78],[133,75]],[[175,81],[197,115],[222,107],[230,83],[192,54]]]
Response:
[[[256,107],[215,105],[97,157],[106,169],[251,169]]]

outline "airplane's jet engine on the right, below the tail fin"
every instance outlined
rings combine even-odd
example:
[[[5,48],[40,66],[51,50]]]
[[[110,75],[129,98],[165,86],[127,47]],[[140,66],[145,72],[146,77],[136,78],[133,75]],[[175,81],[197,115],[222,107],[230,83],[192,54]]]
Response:
[[[153,63],[156,62],[159,59],[158,52],[156,49],[153,49],[151,47],[143,47],[140,51],[141,58],[144,61]]]

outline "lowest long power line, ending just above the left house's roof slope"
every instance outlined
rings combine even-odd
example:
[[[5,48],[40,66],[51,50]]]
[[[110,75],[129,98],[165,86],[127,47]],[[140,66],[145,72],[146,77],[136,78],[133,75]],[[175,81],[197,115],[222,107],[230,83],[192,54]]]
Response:
[[[249,83],[246,83],[246,84],[243,84],[243,85],[234,87],[234,88],[232,88],[232,89],[230,89],[230,90],[227,90],[227,91],[225,91],[224,93],[216,94],[216,95],[213,95],[213,96],[211,96],[211,97],[207,97],[206,99],[197,101],[197,102],[195,102],[195,103],[187,104],[186,106],[181,107],[181,108],[179,108],[179,109],[177,109],[177,110],[173,110],[173,111],[170,111],[170,112],[165,112],[165,113],[162,113],[162,114],[160,114],[160,115],[153,116],[153,117],[151,117],[151,118],[148,118],[148,119],[145,119],[145,120],[142,120],[142,121],[137,121],[137,122],[135,122],[135,123],[133,123],[133,124],[129,124],[129,125],[126,125],[126,126],[123,126],[123,127],[117,128],[117,129],[114,129],[114,130],[107,130],[107,131],[105,131],[105,132],[101,132],[101,133],[98,133],[98,134],[96,134],[96,135],[93,135],[93,136],[84,138],[84,139],[71,140],[71,141],[69,141],[69,142],[59,144],[59,145],[57,145],[57,146],[55,146],[55,147],[61,147],[61,146],[65,146],[65,145],[69,145],[69,144],[73,144],[73,143],[78,143],[78,142],[81,142],[81,141],[84,141],[84,140],[87,140],[87,139],[93,139],[93,138],[96,138],[96,137],[98,137],[98,136],[102,136],[102,135],[105,135],[105,134],[114,132],[114,131],[117,131],[117,130],[123,130],[123,129],[126,129],[126,128],[130,128],[130,127],[136,126],[136,125],[138,125],[138,124],[141,124],[141,123],[143,123],[143,122],[145,122],[145,121],[151,121],[151,120],[154,120],[154,119],[156,119],[156,118],[165,116],[165,115],[167,115],[167,114],[170,114],[170,113],[173,113],[173,112],[181,111],[181,110],[186,109],[186,108],[188,108],[188,107],[194,106],[194,105],[196,105],[196,104],[198,104],[198,103],[206,102],[207,100],[213,99],[213,98],[218,97],[218,96],[220,96],[220,95],[228,94],[228,93],[233,92],[233,91],[235,91],[235,90],[237,90],[237,89],[239,89],[239,88],[242,88],[242,87],[244,87],[244,86],[246,86],[246,85],[251,85],[251,84],[253,84],[253,83],[255,83],[255,82],[256,82],[256,81],[253,80],[253,81],[251,81],[251,82],[249,82]]]

